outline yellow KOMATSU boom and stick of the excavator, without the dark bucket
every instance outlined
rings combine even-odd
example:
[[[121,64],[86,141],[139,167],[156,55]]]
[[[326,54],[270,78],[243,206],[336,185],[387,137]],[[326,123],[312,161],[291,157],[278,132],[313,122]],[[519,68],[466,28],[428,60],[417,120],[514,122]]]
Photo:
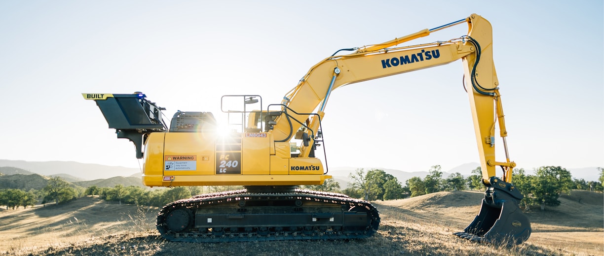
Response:
[[[495,167],[502,166],[506,169],[504,180],[511,183],[512,175],[507,173],[511,173],[515,163],[510,162],[509,157],[505,162],[495,161],[495,135],[493,133],[496,120],[500,121],[501,137],[505,138],[507,131],[498,92],[499,82],[493,64],[491,25],[481,16],[472,14],[467,19],[445,26],[449,27],[459,23],[468,24],[467,36],[446,42],[386,48],[428,36],[432,31],[445,28],[443,26],[432,30],[422,30],[378,45],[358,48],[354,54],[329,57],[316,64],[284,97],[283,105],[297,113],[312,113],[318,108],[318,115],[281,114],[275,120],[276,124],[272,129],[275,140],[289,140],[297,130],[297,127],[290,125],[288,117],[297,120],[310,119],[309,127],[311,129],[306,130],[306,133],[309,133],[309,137],[312,138],[310,133],[316,131],[320,118],[324,116],[324,108],[330,93],[338,87],[440,66],[461,59],[464,64],[465,82],[472,85],[468,96],[477,134],[483,180],[489,184],[490,177],[495,176]],[[497,118],[495,118],[495,114]],[[301,146],[300,156],[307,157],[309,148],[310,146]]]

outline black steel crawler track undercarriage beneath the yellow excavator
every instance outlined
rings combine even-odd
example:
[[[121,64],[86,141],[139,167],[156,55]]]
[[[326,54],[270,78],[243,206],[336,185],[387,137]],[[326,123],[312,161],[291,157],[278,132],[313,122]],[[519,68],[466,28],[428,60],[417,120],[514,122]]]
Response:
[[[336,240],[370,237],[379,221],[369,202],[338,193],[244,189],[165,205],[157,229],[173,242]]]

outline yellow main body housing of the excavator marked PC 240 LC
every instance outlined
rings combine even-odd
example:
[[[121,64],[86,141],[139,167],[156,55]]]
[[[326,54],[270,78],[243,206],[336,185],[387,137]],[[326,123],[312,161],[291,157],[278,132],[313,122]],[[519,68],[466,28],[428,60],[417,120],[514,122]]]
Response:
[[[292,186],[323,184],[330,178],[323,175],[318,158],[291,158],[287,142],[271,147],[270,136],[233,135],[219,139],[213,133],[149,134],[144,148],[143,184]],[[275,155],[271,155],[271,148]],[[224,169],[220,167],[222,161]]]

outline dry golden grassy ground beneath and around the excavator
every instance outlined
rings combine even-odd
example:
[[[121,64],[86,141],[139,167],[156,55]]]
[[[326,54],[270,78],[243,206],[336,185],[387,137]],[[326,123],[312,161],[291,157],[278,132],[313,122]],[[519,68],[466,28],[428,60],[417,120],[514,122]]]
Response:
[[[604,255],[602,193],[573,191],[559,207],[527,213],[533,234],[519,246],[459,239],[480,192],[440,192],[373,202],[380,230],[370,239],[172,243],[155,231],[157,208],[86,197],[65,205],[0,210],[0,255]]]

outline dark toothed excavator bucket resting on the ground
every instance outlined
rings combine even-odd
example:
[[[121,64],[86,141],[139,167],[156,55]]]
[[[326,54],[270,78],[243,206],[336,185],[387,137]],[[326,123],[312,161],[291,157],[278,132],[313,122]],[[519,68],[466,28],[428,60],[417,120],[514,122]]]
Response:
[[[494,177],[491,181],[480,213],[463,232],[454,235],[475,242],[519,245],[532,231],[528,218],[518,207],[522,195],[510,183]]]

